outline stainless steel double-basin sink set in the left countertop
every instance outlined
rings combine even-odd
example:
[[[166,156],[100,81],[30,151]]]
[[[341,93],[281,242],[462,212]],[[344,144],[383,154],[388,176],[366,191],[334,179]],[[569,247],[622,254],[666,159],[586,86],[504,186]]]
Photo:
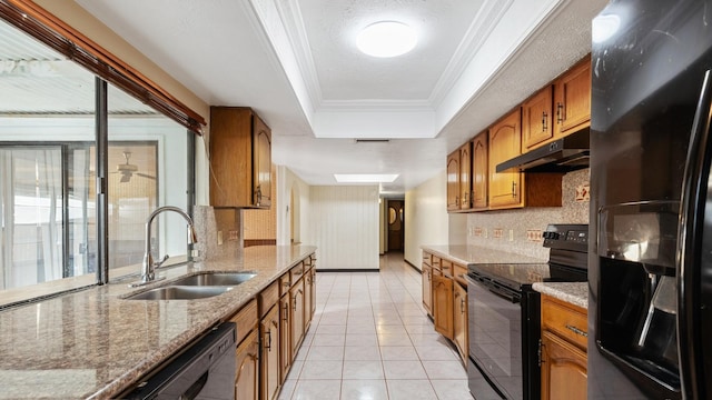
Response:
[[[202,272],[166,286],[129,294],[127,300],[194,300],[222,294],[253,279],[255,272]]]

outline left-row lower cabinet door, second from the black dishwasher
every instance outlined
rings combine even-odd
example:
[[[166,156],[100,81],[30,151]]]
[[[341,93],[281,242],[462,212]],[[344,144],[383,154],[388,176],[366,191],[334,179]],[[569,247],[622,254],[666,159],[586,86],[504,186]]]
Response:
[[[273,307],[259,321],[261,338],[261,399],[274,400],[279,389],[279,306]]]

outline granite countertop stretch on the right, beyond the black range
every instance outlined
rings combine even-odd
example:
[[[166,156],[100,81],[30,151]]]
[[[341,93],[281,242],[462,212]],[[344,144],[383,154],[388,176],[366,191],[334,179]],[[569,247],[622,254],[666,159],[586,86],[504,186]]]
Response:
[[[422,249],[462,264],[546,263],[546,260],[477,246],[423,246]]]

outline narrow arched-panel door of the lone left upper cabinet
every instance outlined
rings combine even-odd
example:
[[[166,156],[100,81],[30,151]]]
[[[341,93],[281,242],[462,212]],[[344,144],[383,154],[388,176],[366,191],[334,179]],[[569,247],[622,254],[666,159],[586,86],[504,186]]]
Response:
[[[269,208],[271,204],[271,132],[259,117],[253,117],[254,137],[254,177],[253,189],[256,207]]]

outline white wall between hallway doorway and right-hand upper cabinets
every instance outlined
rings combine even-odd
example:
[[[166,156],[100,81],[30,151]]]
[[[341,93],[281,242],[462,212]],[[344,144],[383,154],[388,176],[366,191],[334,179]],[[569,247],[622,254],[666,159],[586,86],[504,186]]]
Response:
[[[448,244],[445,170],[405,193],[405,260],[421,268],[424,244]]]

